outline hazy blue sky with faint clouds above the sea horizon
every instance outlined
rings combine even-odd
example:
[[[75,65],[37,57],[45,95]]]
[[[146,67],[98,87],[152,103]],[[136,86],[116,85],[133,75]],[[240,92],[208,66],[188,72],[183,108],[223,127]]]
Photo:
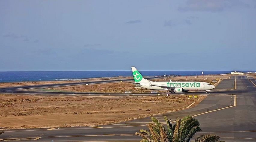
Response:
[[[256,70],[256,1],[0,1],[0,71]]]

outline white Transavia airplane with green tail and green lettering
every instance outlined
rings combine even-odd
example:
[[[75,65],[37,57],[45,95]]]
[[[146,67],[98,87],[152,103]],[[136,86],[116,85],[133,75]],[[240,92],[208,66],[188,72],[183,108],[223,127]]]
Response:
[[[188,92],[189,90],[204,90],[205,93],[215,88],[210,83],[207,82],[198,82],[198,81],[150,81],[139,73],[139,71],[132,67],[133,77],[136,86],[151,89],[151,90],[169,90],[169,93],[175,92]]]

